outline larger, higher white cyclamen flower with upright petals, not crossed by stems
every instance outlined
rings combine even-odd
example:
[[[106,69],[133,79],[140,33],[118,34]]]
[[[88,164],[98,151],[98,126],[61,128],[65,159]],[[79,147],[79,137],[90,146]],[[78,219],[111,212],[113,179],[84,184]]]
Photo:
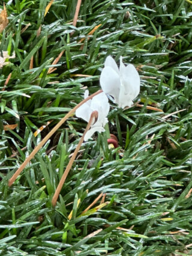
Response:
[[[106,58],[100,84],[104,93],[112,96],[119,108],[130,107],[140,91],[139,73],[132,64],[125,67],[122,57],[119,69],[111,56]]]

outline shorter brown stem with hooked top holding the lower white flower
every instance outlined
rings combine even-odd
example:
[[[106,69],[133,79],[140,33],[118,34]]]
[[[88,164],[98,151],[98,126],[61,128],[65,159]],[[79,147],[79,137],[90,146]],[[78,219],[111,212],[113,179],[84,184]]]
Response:
[[[94,118],[96,119],[97,117],[98,117],[98,112],[93,111],[92,114],[91,114],[91,117],[89,119],[88,125],[86,126],[85,132],[83,133],[82,138],[80,138],[80,141],[79,141],[79,143],[76,147],[76,150],[74,151],[73,156],[71,156],[70,162],[68,163],[68,165],[67,165],[67,167],[64,171],[64,174],[62,175],[61,180],[59,181],[58,187],[55,190],[55,194],[53,195],[53,199],[52,199],[52,206],[56,206],[56,201],[58,200],[58,197],[59,197],[59,194],[61,192],[62,186],[63,186],[63,184],[64,184],[64,182],[67,178],[68,173],[70,172],[70,169],[71,169],[71,166],[73,165],[74,159],[76,159],[76,156],[77,156],[77,153],[80,149],[80,146],[83,143],[85,134],[86,134],[86,132],[88,132],[88,130],[89,130],[91,124],[92,124],[92,120],[94,120]]]

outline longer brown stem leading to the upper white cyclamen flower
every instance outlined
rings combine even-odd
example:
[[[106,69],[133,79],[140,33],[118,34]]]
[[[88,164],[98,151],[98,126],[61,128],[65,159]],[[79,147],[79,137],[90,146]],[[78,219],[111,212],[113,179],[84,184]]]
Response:
[[[17,171],[13,174],[13,176],[8,181],[8,186],[11,186],[13,184],[13,182],[16,180],[16,178],[19,176],[19,174],[23,171],[23,169],[29,163],[29,161],[35,156],[35,154],[40,150],[40,148],[43,147],[43,145],[48,141],[48,139],[53,135],[53,133],[55,133],[56,130],[58,130],[59,127],[65,123],[67,118],[69,118],[71,116],[71,114],[73,114],[76,111],[77,108],[82,106],[85,102],[92,99],[92,97],[94,97],[95,95],[97,95],[99,93],[102,93],[102,90],[99,90],[96,93],[87,97],[85,100],[82,100],[82,102],[80,102],[73,109],[71,109],[71,111],[68,112],[67,115],[65,115],[65,117],[63,117],[61,119],[61,121],[59,121],[59,123],[56,124],[55,127],[53,127],[53,129],[42,139],[42,141],[37,145],[37,147],[34,148],[34,150],[31,152],[31,154],[29,154],[28,158],[25,159],[25,161],[22,163],[22,165],[19,167],[19,169],[17,169]]]

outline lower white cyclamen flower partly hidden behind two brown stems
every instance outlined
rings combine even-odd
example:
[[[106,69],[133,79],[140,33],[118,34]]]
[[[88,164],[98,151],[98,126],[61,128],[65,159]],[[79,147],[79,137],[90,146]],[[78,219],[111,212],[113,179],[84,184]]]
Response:
[[[85,99],[88,97],[89,91],[85,91]],[[82,118],[86,122],[89,121],[93,111],[98,112],[98,118],[91,128],[86,132],[84,141],[87,141],[95,132],[104,132],[104,126],[108,122],[107,115],[109,113],[109,102],[106,94],[100,93],[88,100],[76,110],[76,117]]]

